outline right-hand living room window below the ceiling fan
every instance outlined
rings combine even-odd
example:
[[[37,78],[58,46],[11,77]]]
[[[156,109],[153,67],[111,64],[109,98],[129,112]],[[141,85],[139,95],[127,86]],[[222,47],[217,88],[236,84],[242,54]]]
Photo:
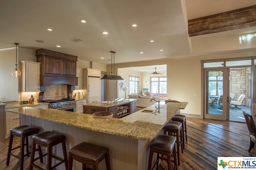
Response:
[[[150,77],[151,94],[167,94],[167,77]]]

